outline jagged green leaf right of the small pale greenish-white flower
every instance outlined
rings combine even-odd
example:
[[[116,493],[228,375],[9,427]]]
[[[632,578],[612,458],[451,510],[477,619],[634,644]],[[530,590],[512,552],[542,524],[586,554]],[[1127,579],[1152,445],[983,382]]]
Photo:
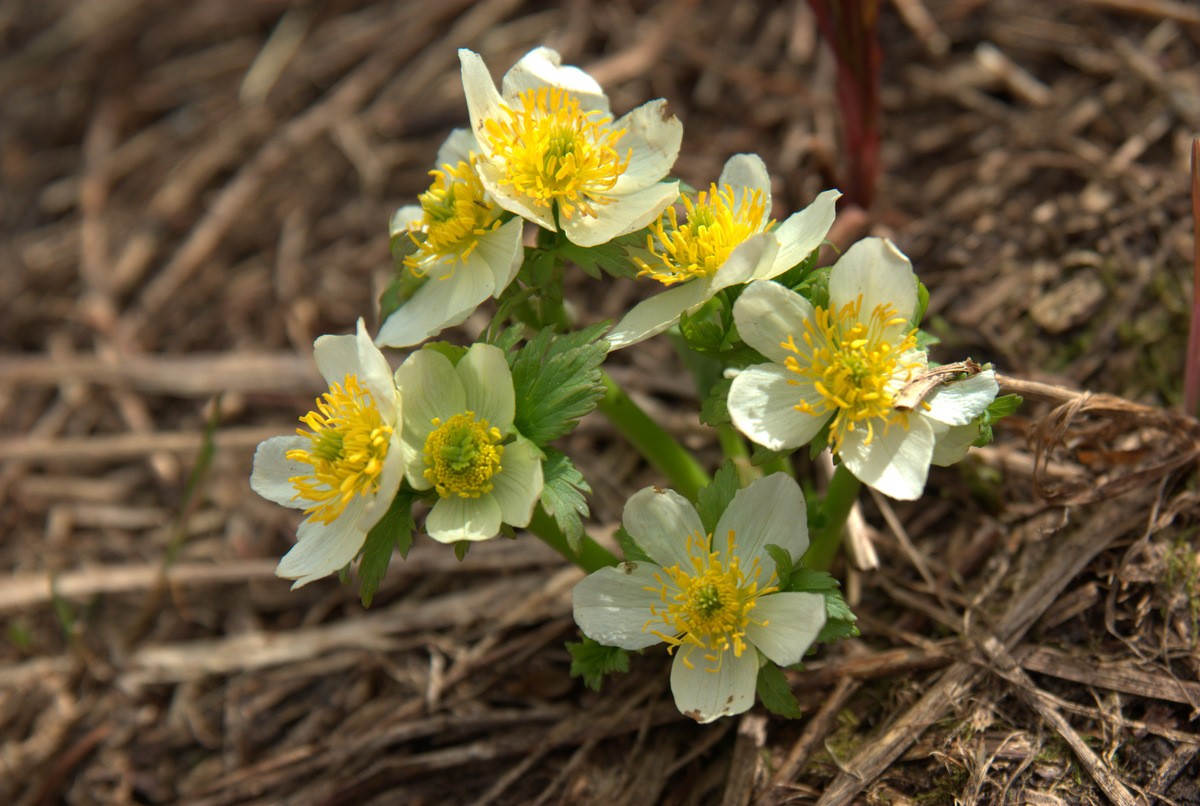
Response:
[[[550,329],[509,354],[516,392],[517,431],[539,447],[569,434],[604,397],[600,365],[608,343],[600,338],[608,323],[564,336]]]

